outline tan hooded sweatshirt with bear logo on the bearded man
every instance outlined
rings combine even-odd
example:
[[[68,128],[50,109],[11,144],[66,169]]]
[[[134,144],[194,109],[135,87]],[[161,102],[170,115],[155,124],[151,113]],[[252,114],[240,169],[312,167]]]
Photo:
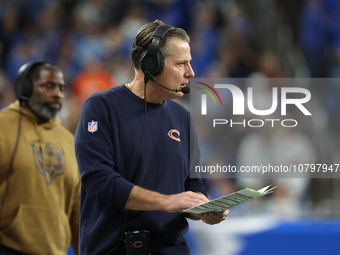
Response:
[[[18,109],[16,101],[0,111],[0,243],[27,254],[65,255],[72,239],[77,253],[80,176],[73,135],[59,119],[41,124],[21,107],[19,146],[10,170]]]

